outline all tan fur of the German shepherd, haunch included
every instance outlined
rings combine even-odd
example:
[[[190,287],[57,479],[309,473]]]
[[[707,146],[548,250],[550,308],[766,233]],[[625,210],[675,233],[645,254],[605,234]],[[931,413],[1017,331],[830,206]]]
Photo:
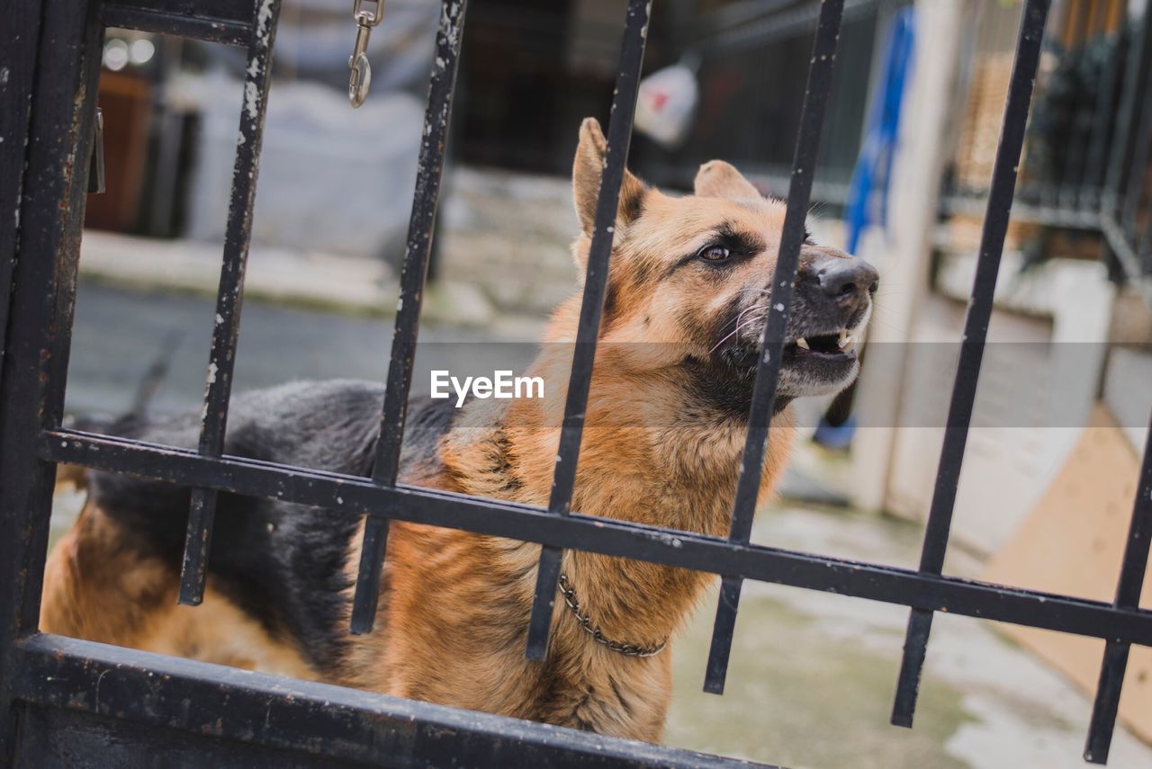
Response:
[[[599,125],[585,121],[573,172],[583,229],[574,256],[581,267],[588,260],[604,149]],[[697,195],[683,198],[627,174],[574,510],[727,535],[746,431],[740,420],[703,419],[699,404],[685,402],[690,390],[677,361],[685,352],[706,357],[713,340],[703,332],[705,320],[740,291],[764,285],[783,216],[783,205],[765,200],[721,161],[705,163]],[[719,222],[761,238],[763,256],[734,266],[722,282],[694,269],[661,280],[669,260],[706,245]],[[546,505],[579,306],[581,297],[574,296],[556,310],[544,349],[525,372],[545,378],[546,398],[473,401],[442,440],[440,462],[410,469],[402,480]],[[780,477],[793,434],[786,410],[773,420],[761,497]],[[111,526],[89,509],[56,548],[47,573],[45,630],[318,675],[283,642],[262,638],[258,626],[219,594],[210,592],[200,609],[176,607],[175,572],[149,559],[118,558],[118,539],[127,534]],[[347,562],[350,578],[358,548],[357,536]],[[658,740],[672,696],[670,648],[647,658],[612,652],[577,625],[558,594],[547,660],[524,658],[539,551],[531,543],[393,523],[376,631],[354,637],[340,670],[325,678]],[[563,571],[607,637],[642,645],[673,637],[714,579],[573,550],[564,553]],[[204,617],[206,610],[214,611],[211,618]],[[225,642],[223,637],[243,640]]]

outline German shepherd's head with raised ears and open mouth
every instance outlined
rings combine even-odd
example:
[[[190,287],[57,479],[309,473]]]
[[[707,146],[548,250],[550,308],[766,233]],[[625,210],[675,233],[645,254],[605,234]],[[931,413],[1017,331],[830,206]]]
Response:
[[[573,169],[588,262],[606,143],[581,127]],[[601,340],[629,347],[630,364],[680,366],[696,386],[746,414],[764,336],[785,204],[765,198],[733,166],[700,166],[695,195],[672,197],[624,172]],[[878,284],[864,260],[810,238],[801,249],[788,315],[778,405],[846,387],[858,368],[855,338]]]

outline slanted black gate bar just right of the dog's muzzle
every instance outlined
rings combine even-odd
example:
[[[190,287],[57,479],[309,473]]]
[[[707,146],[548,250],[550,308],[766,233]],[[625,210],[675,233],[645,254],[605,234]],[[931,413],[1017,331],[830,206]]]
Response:
[[[1000,130],[1000,145],[996,147],[996,160],[992,169],[992,186],[988,191],[988,206],[984,218],[972,296],[969,299],[968,315],[964,318],[960,363],[948,408],[948,422],[940,452],[935,489],[932,494],[932,508],[924,534],[924,548],[920,551],[920,571],[926,573],[941,572],[945,553],[948,549],[952,513],[956,504],[960,471],[968,443],[968,427],[972,420],[976,386],[984,358],[984,342],[992,318],[992,298],[996,289],[1005,236],[1008,233],[1008,219],[1016,189],[1016,169],[1024,144],[1028,111],[1032,100],[1032,86],[1036,83],[1048,6],[1049,0],[1028,0],[1021,18],[1016,61],[1013,64],[1008,104],[1005,107],[1005,119]],[[932,612],[914,608],[908,619],[904,655],[892,711],[892,723],[899,726],[912,725],[920,670],[931,630]]]

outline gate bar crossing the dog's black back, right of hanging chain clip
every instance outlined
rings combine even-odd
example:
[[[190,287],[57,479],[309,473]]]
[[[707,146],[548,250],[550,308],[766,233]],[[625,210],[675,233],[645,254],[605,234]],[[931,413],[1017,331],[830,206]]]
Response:
[[[432,252],[435,212],[440,201],[440,178],[448,143],[456,68],[464,31],[467,0],[444,0],[437,30],[437,52],[424,113],[424,138],[416,170],[416,191],[408,222],[408,246],[400,275],[400,300],[392,333],[387,389],[380,412],[380,436],[376,446],[372,479],[393,486],[400,471],[400,449],[408,413],[408,391],[412,383],[412,361],[419,334],[424,282]],[[386,512],[386,511],[385,511]],[[367,516],[361,547],[356,595],[353,600],[351,632],[371,632],[380,593],[380,572],[388,541],[387,516]]]

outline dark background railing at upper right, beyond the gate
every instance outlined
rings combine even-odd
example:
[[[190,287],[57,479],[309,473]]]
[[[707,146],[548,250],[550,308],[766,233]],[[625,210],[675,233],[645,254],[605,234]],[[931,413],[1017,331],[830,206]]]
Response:
[[[1039,84],[1013,220],[1099,233],[1113,277],[1152,306],[1152,30],[1128,6],[1066,7],[1061,39],[1045,46],[1054,63]],[[980,182],[949,180],[942,212],[978,215],[990,193]]]

